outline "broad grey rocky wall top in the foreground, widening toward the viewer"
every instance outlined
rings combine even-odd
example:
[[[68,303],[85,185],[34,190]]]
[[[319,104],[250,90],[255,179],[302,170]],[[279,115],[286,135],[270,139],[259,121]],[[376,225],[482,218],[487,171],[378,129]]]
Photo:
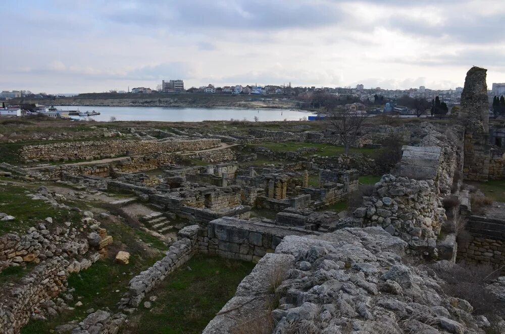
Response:
[[[436,275],[402,263],[406,247],[380,228],[287,236],[203,332],[242,332],[270,319],[275,333],[483,333],[470,303],[445,295]],[[279,276],[283,282],[272,283]],[[265,300],[273,290],[279,307],[272,311]]]

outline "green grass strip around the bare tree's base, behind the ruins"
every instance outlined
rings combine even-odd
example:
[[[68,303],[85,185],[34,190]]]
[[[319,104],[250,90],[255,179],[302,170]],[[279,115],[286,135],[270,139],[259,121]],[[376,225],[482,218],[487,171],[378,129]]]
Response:
[[[265,142],[261,144],[257,144],[255,146],[261,146],[269,148],[273,151],[278,152],[287,152],[287,151],[296,151],[298,148],[304,147],[314,147],[317,148],[318,151],[314,154],[322,155],[322,156],[335,156],[344,153],[343,146],[335,146],[331,144],[320,144],[320,143],[301,143],[301,142],[283,142],[283,143],[274,143],[274,142]],[[351,147],[349,149],[350,153],[363,153],[366,155],[371,155],[372,153],[377,152],[378,149],[374,148],[356,148]],[[312,155],[313,153],[309,153],[307,155]]]

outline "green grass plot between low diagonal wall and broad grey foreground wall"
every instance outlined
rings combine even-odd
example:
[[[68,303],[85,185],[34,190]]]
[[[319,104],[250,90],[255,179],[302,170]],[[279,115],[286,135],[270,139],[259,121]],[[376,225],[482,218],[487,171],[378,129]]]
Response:
[[[137,328],[144,333],[200,333],[253,267],[250,262],[194,256],[146,296],[158,299],[150,310],[140,307]]]

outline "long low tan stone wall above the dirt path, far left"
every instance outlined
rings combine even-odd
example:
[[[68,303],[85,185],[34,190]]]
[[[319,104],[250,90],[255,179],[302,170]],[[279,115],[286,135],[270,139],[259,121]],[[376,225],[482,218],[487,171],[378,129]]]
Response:
[[[152,154],[157,152],[198,151],[218,147],[219,139],[187,139],[165,141],[137,141],[112,139],[107,141],[79,141],[26,145],[20,155],[24,160],[52,160],[106,158],[129,154]]]

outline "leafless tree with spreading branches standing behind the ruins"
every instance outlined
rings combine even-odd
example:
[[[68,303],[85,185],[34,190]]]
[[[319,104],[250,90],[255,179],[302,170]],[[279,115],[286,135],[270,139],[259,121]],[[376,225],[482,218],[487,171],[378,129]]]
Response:
[[[356,110],[337,109],[324,118],[329,128],[333,130],[344,145],[345,154],[349,153],[349,147],[356,143],[360,135],[363,121],[368,117],[366,112]]]

